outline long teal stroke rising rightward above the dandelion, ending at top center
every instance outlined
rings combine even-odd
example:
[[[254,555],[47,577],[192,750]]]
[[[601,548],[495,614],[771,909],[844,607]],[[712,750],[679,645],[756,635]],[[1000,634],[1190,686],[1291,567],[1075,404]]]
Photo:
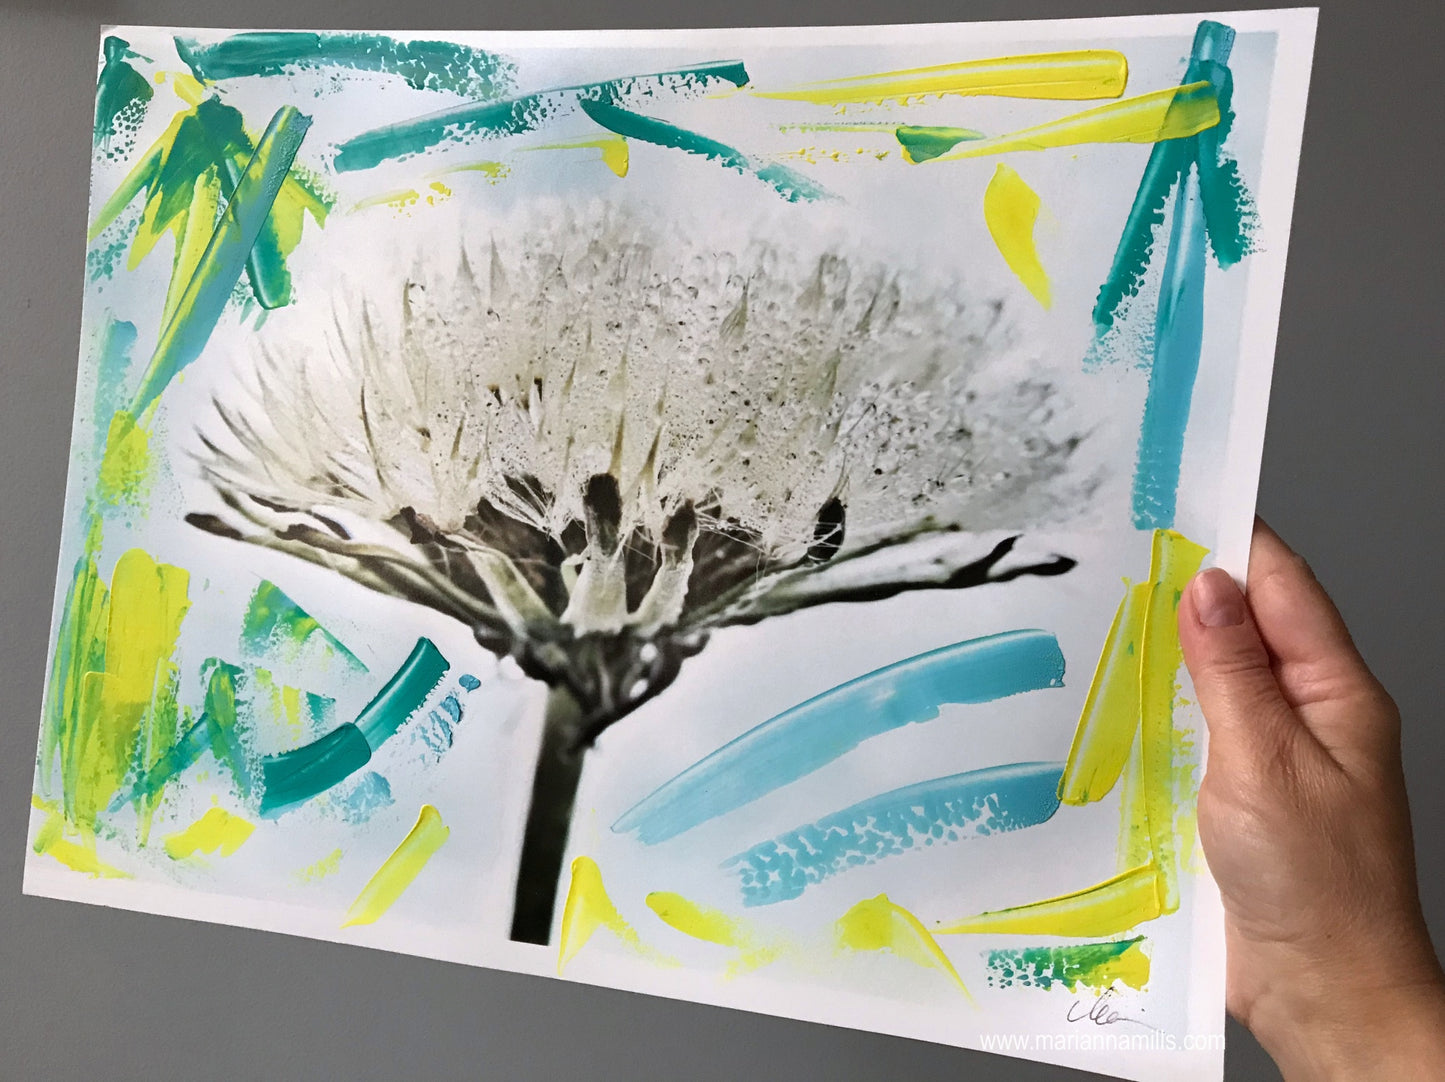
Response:
[[[523,134],[549,120],[568,116],[577,108],[579,98],[595,100],[604,95],[634,92],[653,94],[659,90],[707,90],[717,82],[744,87],[747,85],[747,69],[741,61],[717,61],[678,71],[553,87],[506,101],[458,105],[363,131],[337,147],[332,168],[338,173],[371,169],[389,159],[419,155],[438,143],[464,136],[499,139]]]

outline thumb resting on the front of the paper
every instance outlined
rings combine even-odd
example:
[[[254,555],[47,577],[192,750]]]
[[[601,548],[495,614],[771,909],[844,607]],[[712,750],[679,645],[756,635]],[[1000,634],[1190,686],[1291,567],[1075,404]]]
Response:
[[[1276,761],[1302,727],[1227,571],[1209,568],[1189,582],[1179,600],[1179,644],[1209,725],[1209,757]]]

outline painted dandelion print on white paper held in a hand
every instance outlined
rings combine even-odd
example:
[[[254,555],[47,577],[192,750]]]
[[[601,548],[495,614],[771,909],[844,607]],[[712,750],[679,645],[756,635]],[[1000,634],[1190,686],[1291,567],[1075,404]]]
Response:
[[[26,890],[1217,1079],[1312,40],[107,30]]]

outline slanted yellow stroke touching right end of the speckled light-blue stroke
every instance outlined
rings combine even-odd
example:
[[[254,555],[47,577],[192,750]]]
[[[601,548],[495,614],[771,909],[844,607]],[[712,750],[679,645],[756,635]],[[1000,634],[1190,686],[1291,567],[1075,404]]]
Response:
[[[1108,627],[1059,779],[1059,800],[1066,805],[1104,799],[1118,782],[1129,750],[1134,745],[1134,732],[1139,731],[1139,659],[1152,588],[1150,582],[1126,588]]]

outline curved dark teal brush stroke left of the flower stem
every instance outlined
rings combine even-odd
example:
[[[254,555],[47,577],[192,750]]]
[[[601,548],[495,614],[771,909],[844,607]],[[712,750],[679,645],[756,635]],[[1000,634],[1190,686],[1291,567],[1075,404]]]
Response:
[[[371,753],[422,708],[447,673],[448,662],[429,639],[418,639],[410,656],[366,705],[355,721],[319,740],[262,760],[262,815],[275,816],[324,793],[371,761]]]

